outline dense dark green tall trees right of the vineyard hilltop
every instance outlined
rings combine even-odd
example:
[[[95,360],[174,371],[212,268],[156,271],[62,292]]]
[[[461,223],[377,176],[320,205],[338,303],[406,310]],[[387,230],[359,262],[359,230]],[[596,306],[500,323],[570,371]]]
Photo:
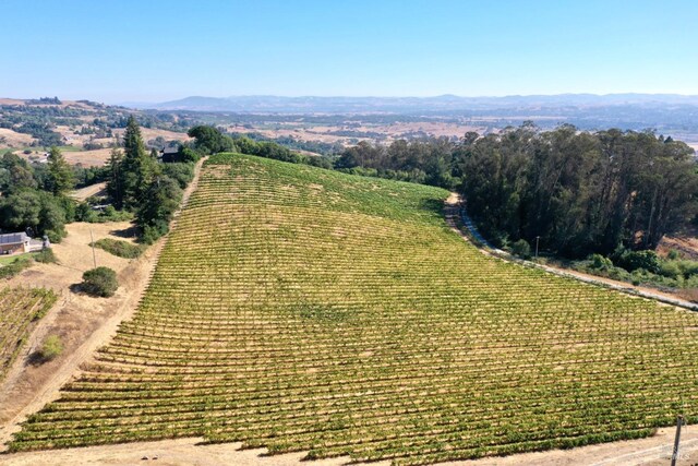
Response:
[[[361,142],[335,167],[458,190],[495,243],[539,238],[570,258],[654,249],[697,212],[694,151],[651,131],[540,131],[526,123],[457,142]]]

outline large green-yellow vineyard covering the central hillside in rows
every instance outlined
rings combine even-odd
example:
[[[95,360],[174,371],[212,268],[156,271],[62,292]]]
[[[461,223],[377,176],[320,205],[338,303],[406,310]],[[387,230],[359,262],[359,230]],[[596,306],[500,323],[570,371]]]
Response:
[[[12,451],[203,437],[431,464],[698,415],[698,314],[481,254],[444,190],[205,164],[133,320]]]

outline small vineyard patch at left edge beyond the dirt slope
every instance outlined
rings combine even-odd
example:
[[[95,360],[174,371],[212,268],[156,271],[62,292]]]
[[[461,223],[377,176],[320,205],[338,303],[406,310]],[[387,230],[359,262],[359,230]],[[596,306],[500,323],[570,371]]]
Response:
[[[0,379],[8,371],[28,337],[33,324],[56,302],[56,295],[44,288],[0,290]]]

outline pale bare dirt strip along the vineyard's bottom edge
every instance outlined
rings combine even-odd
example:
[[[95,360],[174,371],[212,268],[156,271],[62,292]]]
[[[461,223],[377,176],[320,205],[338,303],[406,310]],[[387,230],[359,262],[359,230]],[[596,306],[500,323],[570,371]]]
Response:
[[[678,466],[698,463],[698,430],[682,434]],[[265,456],[265,450],[239,450],[239,443],[198,445],[202,439],[164,440],[83,449],[15,453],[0,456],[7,466],[159,465],[159,466],[337,466],[350,458],[302,462],[304,453]],[[673,431],[662,429],[648,439],[601,443],[573,450],[522,453],[505,457],[443,463],[444,466],[665,466],[671,457]],[[147,459],[146,459],[147,458]],[[371,463],[387,466],[389,462]]]

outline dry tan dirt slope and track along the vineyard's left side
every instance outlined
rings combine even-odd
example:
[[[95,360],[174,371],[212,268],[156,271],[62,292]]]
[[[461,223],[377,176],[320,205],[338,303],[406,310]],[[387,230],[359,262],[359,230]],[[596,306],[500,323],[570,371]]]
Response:
[[[182,206],[196,189],[202,164],[203,160],[200,160],[196,165],[194,180],[184,191]],[[178,215],[179,211],[176,213],[176,217]],[[172,226],[176,222],[176,219],[172,222]],[[20,429],[20,423],[28,415],[57,399],[60,395],[60,387],[72,378],[80,375],[81,365],[87,361],[97,348],[107,344],[116,335],[117,328],[123,320],[133,315],[166,241],[167,237],[161,238],[136,260],[130,262],[121,260],[125,261],[128,265],[121,267],[118,273],[120,288],[112,298],[91,298],[69,291],[68,284],[74,283],[75,277],[60,283],[61,297],[58,303],[39,322],[31,335],[23,355],[17,358],[0,387],[0,420],[2,421],[0,443],[4,445],[11,439],[12,433]],[[73,252],[70,254],[71,256],[77,255],[75,251],[71,252]],[[57,255],[60,260],[61,254]],[[83,252],[83,260],[85,255],[88,260],[92,259],[91,254]],[[119,258],[112,256],[111,260],[116,261],[117,259]],[[104,265],[101,260],[99,263]],[[55,264],[50,265],[59,267]],[[77,267],[69,268],[72,271]],[[80,275],[82,270],[73,272]],[[32,272],[32,270],[27,272]],[[34,273],[40,274],[40,271],[34,271]],[[56,287],[57,282],[55,280],[51,285]],[[28,361],[32,353],[38,348],[48,334],[61,336],[65,346],[63,357],[46,365],[31,366]],[[2,462],[0,461],[0,463]]]

